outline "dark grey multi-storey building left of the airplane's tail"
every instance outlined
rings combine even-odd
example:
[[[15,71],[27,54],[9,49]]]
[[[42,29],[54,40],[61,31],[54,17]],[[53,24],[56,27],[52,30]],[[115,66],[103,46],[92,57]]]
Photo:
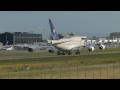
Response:
[[[2,42],[3,45],[26,44],[41,41],[42,34],[29,32],[5,32],[0,34],[0,42]]]

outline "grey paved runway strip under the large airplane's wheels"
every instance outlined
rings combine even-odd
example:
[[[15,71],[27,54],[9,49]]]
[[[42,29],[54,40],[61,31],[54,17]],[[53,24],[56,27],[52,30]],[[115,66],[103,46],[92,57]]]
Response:
[[[89,52],[89,53],[81,53],[80,55],[56,55],[47,54],[47,55],[34,55],[34,56],[8,56],[8,57],[0,57],[0,60],[13,60],[13,59],[28,59],[28,58],[49,58],[49,57],[65,57],[65,56],[81,56],[81,55],[93,55],[93,54],[110,54],[110,53],[120,53],[120,51],[110,51],[110,52]]]

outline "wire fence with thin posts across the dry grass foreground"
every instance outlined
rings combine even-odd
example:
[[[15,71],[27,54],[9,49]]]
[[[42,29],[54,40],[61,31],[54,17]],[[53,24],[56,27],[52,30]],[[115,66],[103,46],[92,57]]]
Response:
[[[4,69],[2,71],[2,69]],[[120,63],[1,67],[0,79],[120,79]]]

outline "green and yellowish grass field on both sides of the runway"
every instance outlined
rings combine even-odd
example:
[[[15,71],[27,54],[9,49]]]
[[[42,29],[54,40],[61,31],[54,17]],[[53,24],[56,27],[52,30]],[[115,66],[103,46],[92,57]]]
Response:
[[[120,48],[108,48],[115,51]],[[99,52],[100,50],[96,50]],[[86,53],[87,50],[81,50]],[[2,53],[1,53],[2,54]],[[39,55],[48,52],[5,53],[6,55]],[[3,54],[3,56],[5,55]],[[2,56],[2,55],[1,55]],[[25,67],[29,67],[26,70]],[[0,60],[0,78],[120,78],[120,53],[63,56],[49,58]]]

